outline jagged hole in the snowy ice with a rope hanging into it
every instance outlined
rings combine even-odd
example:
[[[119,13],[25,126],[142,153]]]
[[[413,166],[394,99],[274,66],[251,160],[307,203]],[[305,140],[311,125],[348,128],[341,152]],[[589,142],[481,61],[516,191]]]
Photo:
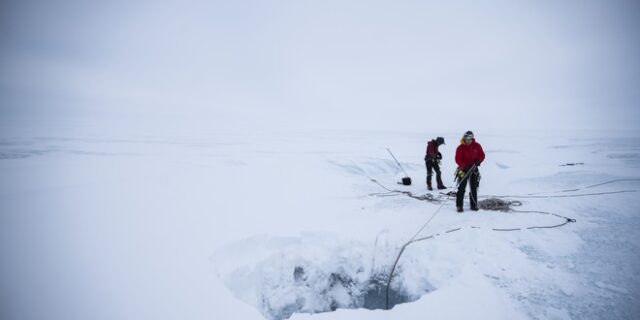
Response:
[[[223,255],[228,258],[233,253],[235,261],[219,269],[220,277],[237,298],[270,320],[288,319],[294,313],[387,308],[387,260],[393,261],[389,253],[395,253],[395,248],[289,240],[274,240],[274,248],[261,240],[244,253],[237,246],[228,248]],[[389,309],[435,289],[425,266],[416,262],[419,259],[406,261],[389,287]]]

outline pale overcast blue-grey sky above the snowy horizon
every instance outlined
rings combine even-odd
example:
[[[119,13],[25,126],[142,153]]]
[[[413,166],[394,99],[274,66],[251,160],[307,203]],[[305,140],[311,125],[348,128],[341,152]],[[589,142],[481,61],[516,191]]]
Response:
[[[0,133],[631,130],[637,1],[0,2]]]

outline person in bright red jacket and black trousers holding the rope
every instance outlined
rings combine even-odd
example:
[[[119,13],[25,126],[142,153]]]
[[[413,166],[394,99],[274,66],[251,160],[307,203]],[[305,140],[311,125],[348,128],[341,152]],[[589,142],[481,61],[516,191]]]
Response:
[[[463,212],[462,205],[464,202],[464,193],[467,188],[467,181],[470,181],[471,192],[469,200],[471,202],[471,210],[478,211],[478,187],[480,185],[480,171],[478,167],[484,161],[484,151],[482,146],[476,142],[473,132],[467,131],[458,149],[456,149],[456,163],[458,170],[456,178],[460,179],[458,193],[456,194],[456,206],[458,212]]]

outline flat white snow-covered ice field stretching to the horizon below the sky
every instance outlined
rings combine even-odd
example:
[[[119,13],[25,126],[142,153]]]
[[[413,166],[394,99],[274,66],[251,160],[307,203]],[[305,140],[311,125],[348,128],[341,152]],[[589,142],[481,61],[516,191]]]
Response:
[[[521,199],[530,213],[448,202],[402,256],[392,310],[376,290],[438,208],[374,197],[426,192],[437,133],[245,132],[210,137],[0,140],[3,319],[637,319],[638,192]],[[481,195],[640,178],[640,139],[476,132]],[[445,135],[453,184],[458,134]],[[386,153],[413,178],[410,187]],[[561,166],[582,162],[583,165]],[[629,180],[588,190],[640,190]],[[436,194],[436,193],[434,193]],[[468,204],[467,204],[468,206]],[[471,227],[477,228],[471,228]],[[462,228],[452,233],[444,231]],[[376,282],[378,281],[378,282]],[[311,312],[330,311],[309,315]]]

